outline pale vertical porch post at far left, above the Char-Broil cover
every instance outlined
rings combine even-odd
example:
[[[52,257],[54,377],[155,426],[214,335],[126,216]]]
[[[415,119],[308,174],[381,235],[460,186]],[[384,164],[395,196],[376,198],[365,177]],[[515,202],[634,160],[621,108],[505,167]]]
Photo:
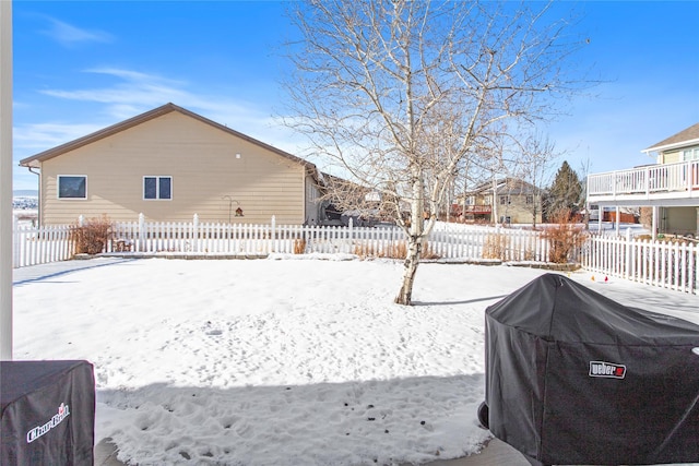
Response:
[[[12,2],[0,1],[0,360],[12,360]]]

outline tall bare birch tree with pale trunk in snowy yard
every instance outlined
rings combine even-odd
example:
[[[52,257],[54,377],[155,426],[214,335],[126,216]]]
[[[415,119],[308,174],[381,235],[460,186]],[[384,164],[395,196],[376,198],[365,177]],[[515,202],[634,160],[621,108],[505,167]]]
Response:
[[[352,182],[388,200],[407,237],[395,302],[410,304],[420,251],[465,158],[499,123],[533,124],[568,94],[564,63],[583,44],[549,5],[408,0],[292,3],[287,124]],[[538,7],[537,7],[538,8]],[[339,175],[337,171],[335,174]],[[404,207],[406,216],[403,214]]]

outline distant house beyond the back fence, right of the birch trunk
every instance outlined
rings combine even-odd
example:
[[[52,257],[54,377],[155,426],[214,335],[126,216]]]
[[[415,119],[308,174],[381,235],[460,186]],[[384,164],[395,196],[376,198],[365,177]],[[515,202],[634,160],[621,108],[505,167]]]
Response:
[[[541,193],[542,190],[517,178],[488,181],[453,204],[451,213],[466,223],[541,224]]]

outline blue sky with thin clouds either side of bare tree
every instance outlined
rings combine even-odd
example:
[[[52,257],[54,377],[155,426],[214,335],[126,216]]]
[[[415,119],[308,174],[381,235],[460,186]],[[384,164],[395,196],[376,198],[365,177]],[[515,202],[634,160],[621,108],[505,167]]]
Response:
[[[557,2],[582,13],[579,55],[604,83],[546,130],[582,172],[653,163],[640,151],[699,122],[699,1]],[[275,1],[13,2],[14,160],[171,101],[285,151]],[[315,160],[311,160],[315,162]],[[37,177],[15,167],[14,189]]]

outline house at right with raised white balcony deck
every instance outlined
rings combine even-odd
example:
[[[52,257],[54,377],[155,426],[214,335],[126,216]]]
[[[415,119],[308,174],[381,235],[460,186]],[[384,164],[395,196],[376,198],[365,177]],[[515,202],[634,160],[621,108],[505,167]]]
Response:
[[[651,207],[653,235],[699,234],[699,123],[641,151],[656,164],[588,177],[588,204]]]

